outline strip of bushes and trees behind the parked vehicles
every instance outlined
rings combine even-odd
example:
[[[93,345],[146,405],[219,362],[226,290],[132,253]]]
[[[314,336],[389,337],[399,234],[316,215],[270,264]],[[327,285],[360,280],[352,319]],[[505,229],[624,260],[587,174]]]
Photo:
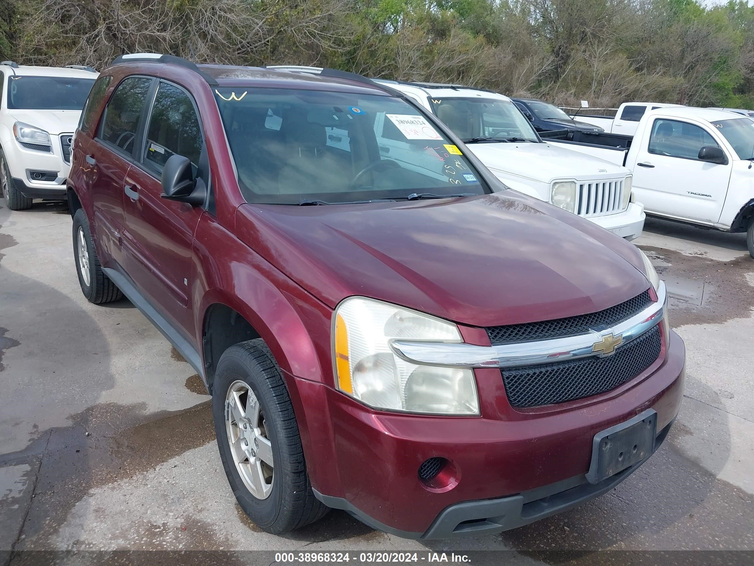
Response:
[[[0,57],[333,66],[568,104],[754,106],[745,0],[0,0]]]

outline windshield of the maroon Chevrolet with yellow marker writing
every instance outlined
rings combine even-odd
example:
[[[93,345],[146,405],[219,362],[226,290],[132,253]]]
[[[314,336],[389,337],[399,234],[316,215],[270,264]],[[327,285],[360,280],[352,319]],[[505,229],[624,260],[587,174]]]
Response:
[[[461,149],[400,98],[272,88],[215,94],[247,201],[489,192]]]

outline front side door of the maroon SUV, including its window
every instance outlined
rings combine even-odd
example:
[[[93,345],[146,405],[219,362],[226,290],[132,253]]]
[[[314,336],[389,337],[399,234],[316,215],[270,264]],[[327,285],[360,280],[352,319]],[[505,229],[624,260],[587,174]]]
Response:
[[[189,282],[194,231],[204,209],[162,198],[161,175],[171,155],[183,155],[209,186],[204,135],[193,98],[173,83],[160,80],[147,114],[143,139],[137,142],[134,164],[121,189],[124,262],[150,302],[194,343]]]

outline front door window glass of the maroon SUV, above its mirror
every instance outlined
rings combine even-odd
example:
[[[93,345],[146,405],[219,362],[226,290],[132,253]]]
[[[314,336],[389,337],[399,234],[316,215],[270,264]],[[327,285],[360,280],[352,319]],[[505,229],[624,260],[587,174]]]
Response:
[[[162,173],[170,155],[183,155],[198,168],[203,140],[194,103],[176,85],[160,82],[149,118],[144,164]]]

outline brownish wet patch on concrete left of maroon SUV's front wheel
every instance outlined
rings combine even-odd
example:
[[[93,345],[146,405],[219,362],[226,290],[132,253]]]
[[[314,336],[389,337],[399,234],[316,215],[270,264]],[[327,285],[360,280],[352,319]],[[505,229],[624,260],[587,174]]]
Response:
[[[182,411],[145,410],[141,403],[94,405],[71,415],[71,425],[45,431],[23,451],[3,455],[6,461],[42,457],[24,548],[44,548],[91,489],[154,469],[215,438],[210,401]]]

